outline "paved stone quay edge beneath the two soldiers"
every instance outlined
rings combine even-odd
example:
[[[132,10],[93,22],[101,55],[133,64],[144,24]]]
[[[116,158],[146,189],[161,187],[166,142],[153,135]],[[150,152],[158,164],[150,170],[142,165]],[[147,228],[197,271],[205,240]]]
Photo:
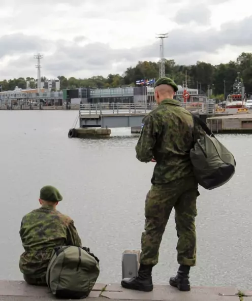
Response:
[[[252,301],[252,292],[243,292],[243,301]],[[180,292],[169,285],[155,285],[152,292],[123,289],[120,284],[94,286],[90,301],[133,300],[133,301],[239,301],[237,288],[192,287],[190,292]],[[0,301],[50,301],[55,297],[46,287],[27,285],[23,281],[0,281]]]

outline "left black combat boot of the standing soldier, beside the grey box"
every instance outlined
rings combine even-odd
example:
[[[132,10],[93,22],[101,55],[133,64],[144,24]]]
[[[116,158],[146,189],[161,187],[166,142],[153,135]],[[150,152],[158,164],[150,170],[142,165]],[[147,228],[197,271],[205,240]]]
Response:
[[[137,277],[122,279],[121,286],[141,291],[152,291],[152,267],[153,265],[140,264]]]

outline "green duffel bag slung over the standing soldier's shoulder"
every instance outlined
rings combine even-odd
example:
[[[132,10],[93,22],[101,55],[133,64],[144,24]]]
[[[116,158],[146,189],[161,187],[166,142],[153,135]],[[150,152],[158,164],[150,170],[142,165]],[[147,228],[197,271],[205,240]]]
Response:
[[[227,183],[235,173],[235,158],[220,143],[208,126],[197,116],[194,118],[194,146],[190,157],[194,174],[199,185],[205,189],[214,189]],[[201,126],[207,135],[202,135],[196,125]]]

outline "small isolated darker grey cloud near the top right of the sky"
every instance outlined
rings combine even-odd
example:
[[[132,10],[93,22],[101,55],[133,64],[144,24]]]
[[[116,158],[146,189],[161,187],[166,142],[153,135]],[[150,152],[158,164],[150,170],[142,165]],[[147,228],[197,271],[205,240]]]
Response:
[[[209,8],[200,4],[197,6],[185,7],[179,10],[174,20],[178,24],[195,22],[199,25],[209,25],[210,17],[211,12]]]

